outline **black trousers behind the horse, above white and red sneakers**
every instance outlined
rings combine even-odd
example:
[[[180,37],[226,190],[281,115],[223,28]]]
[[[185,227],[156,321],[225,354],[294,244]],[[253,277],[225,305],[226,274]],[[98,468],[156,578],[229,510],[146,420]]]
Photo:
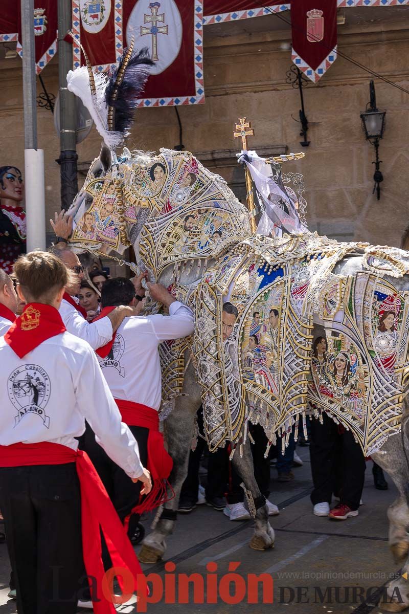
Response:
[[[340,435],[338,425],[323,413],[323,424],[311,421],[310,458],[313,505],[331,503],[332,493],[351,510],[359,508],[365,479],[365,457],[350,430]]]

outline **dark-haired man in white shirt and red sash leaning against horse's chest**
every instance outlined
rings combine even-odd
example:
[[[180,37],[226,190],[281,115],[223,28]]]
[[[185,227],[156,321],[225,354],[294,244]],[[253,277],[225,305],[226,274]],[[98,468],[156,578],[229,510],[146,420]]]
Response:
[[[115,305],[134,306],[137,296],[145,294],[138,281],[125,278],[109,279],[101,290],[101,305],[105,311]],[[107,488],[121,520],[133,511],[128,535],[132,537],[142,511],[151,510],[166,500],[166,479],[172,461],[166,459],[166,469],[159,466],[167,455],[162,435],[158,432],[158,410],[162,398],[162,376],[159,362],[159,344],[162,341],[191,335],[194,330],[193,311],[175,300],[161,284],[150,284],[151,297],[169,309],[169,316],[127,317],[118,327],[113,342],[99,348],[99,364],[115,398],[123,418],[134,434],[143,464],[153,478],[150,497],[139,501],[139,486],[132,484],[128,476],[112,462],[107,454],[95,445],[91,429],[86,429],[83,446]]]

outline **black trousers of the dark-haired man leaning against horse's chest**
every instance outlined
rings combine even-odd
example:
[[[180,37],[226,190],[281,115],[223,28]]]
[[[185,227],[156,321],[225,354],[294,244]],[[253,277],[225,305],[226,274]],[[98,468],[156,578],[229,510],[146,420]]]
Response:
[[[139,426],[130,426],[129,429],[138,442],[140,462],[142,462],[143,467],[146,467],[148,461],[149,429]],[[132,482],[131,478],[126,475],[124,470],[110,459],[104,449],[96,442],[94,432],[88,422],[86,422],[85,433],[79,440],[79,447],[88,454],[93,462],[102,483],[107,489],[113,507],[115,507],[121,522],[123,522],[139,501],[142,482]],[[132,515],[129,521],[129,537],[134,535],[138,522],[139,516],[135,514]],[[104,559],[105,558],[106,553]]]

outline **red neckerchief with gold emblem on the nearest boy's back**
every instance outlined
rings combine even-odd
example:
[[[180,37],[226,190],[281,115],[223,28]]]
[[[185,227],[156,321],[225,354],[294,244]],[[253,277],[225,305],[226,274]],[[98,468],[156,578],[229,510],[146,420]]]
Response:
[[[43,303],[28,303],[20,317],[7,330],[4,339],[19,358],[23,358],[43,341],[65,332],[58,310]]]

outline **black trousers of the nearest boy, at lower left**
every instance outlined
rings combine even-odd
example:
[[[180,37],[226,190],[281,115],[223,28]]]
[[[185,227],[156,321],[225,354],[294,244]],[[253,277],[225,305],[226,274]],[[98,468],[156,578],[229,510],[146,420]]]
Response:
[[[83,573],[74,463],[0,468],[0,509],[19,614],[75,614]]]

